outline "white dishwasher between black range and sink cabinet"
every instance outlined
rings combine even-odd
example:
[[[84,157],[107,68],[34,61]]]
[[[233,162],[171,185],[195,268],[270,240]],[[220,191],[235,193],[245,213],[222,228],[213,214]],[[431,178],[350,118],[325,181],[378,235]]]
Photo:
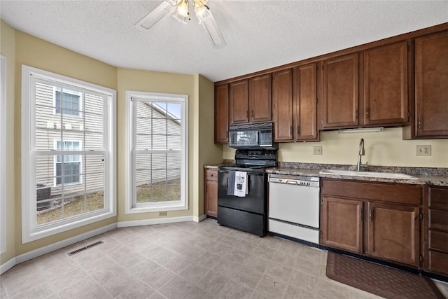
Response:
[[[269,174],[268,230],[319,243],[319,178]]]

